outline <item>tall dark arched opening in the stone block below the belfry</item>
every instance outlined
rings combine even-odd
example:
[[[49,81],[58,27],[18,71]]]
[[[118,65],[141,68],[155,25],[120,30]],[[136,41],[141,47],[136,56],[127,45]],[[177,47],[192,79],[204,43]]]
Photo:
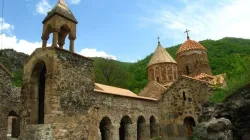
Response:
[[[38,61],[32,71],[31,122],[44,124],[45,85],[47,69],[43,61]]]

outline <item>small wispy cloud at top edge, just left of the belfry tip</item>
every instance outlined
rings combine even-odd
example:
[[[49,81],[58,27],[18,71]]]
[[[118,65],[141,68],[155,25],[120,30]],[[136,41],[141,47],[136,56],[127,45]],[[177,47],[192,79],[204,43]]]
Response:
[[[36,5],[36,12],[41,15],[46,15],[47,12],[51,10],[51,7],[48,0],[41,0]]]

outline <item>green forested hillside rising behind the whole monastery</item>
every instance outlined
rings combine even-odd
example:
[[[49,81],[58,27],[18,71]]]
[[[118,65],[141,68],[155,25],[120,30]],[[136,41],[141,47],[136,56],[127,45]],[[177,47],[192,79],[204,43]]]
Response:
[[[208,50],[208,57],[213,74],[227,73],[229,79],[239,78],[250,69],[250,39],[223,38],[220,40],[204,40],[200,42]],[[175,52],[181,44],[167,48],[175,58]],[[152,46],[156,48],[156,46]],[[10,50],[8,50],[10,51]],[[0,62],[7,65],[16,76],[15,82],[20,86],[20,65],[23,64],[22,53],[6,55],[0,50]],[[152,52],[153,53],[153,52]],[[21,54],[21,55],[20,55]],[[18,55],[18,56],[17,56]],[[95,60],[95,81],[98,83],[128,88],[138,93],[147,84],[146,66],[152,54],[136,63],[126,63],[111,59],[93,58]],[[19,57],[22,57],[20,59]],[[20,61],[20,64],[16,64]],[[17,67],[18,65],[18,67]],[[14,68],[13,68],[14,67]]]

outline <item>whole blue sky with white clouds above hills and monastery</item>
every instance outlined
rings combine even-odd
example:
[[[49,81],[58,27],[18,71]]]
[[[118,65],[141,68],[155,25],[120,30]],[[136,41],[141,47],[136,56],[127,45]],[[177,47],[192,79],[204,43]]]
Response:
[[[65,1],[79,22],[75,51],[85,56],[134,62],[155,50],[157,36],[164,47],[183,43],[186,28],[196,41],[250,38],[250,0]],[[1,48],[30,54],[41,47],[41,22],[56,3],[5,0]]]

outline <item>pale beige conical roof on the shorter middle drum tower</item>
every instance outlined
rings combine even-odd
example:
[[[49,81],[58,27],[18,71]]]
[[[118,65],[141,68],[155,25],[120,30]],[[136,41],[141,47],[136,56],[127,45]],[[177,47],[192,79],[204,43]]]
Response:
[[[159,64],[159,63],[176,63],[176,61],[171,57],[171,55],[161,46],[158,42],[158,46],[150,59],[148,66]]]

